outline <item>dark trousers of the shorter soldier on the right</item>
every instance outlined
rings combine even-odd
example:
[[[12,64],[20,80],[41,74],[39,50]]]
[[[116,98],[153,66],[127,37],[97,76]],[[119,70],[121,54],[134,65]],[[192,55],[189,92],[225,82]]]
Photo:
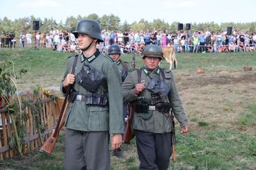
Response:
[[[166,170],[172,155],[170,133],[148,133],[134,130],[140,169]]]

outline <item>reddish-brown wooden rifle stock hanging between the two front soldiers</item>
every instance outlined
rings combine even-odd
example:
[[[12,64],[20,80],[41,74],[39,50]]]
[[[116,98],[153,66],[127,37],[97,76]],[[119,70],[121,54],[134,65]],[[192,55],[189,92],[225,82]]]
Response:
[[[129,107],[129,117],[125,122],[126,126],[125,126],[124,142],[126,144],[129,144],[132,138],[132,130],[131,130],[132,119],[134,119],[134,105],[131,104]]]

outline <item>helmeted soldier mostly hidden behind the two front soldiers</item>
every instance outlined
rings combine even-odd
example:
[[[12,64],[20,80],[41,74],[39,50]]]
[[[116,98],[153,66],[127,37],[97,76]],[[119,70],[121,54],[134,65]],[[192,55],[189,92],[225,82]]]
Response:
[[[118,64],[118,69],[120,71],[121,74],[121,78],[122,78],[122,82],[125,80],[125,78],[128,75],[129,70],[131,69],[129,67],[128,62],[124,62],[120,59],[121,57],[121,49],[120,46],[113,44],[111,46],[109,46],[109,56],[111,56],[111,58],[113,58],[113,60]],[[124,120],[127,118],[128,116],[128,105],[127,103],[123,103],[123,114],[124,114]],[[121,148],[118,148],[117,150],[113,151],[113,155],[117,156],[118,158],[122,158],[122,152],[121,152]]]

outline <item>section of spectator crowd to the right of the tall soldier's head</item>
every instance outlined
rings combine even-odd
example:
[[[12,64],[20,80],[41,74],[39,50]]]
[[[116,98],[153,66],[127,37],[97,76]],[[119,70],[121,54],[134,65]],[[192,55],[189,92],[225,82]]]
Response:
[[[177,53],[221,53],[256,51],[256,32],[234,30],[227,31],[133,31],[114,33],[102,31],[104,43],[99,44],[102,51],[107,51],[111,44],[118,44],[123,53],[141,53],[147,44],[173,46]]]

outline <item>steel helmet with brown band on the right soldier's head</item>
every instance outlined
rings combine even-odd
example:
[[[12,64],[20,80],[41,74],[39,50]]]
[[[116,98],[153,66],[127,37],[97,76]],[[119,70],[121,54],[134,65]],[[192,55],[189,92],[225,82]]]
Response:
[[[145,46],[145,49],[142,54],[142,58],[146,56],[163,59],[163,52],[162,52],[161,46],[158,46],[155,44],[149,44]]]

